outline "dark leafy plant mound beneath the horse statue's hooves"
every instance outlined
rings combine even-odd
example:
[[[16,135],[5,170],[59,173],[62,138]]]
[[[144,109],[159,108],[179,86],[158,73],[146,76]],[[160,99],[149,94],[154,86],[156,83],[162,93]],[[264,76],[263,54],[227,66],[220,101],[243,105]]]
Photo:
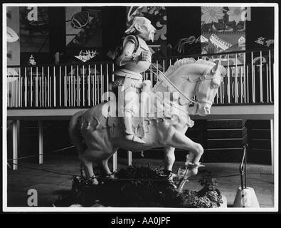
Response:
[[[182,190],[178,180],[168,180],[163,170],[150,166],[129,166],[115,173],[116,179],[97,177],[98,185],[85,177],[73,177],[68,195],[60,196],[54,207],[226,207],[226,197],[215,188],[196,192]],[[204,180],[206,182],[206,178]]]

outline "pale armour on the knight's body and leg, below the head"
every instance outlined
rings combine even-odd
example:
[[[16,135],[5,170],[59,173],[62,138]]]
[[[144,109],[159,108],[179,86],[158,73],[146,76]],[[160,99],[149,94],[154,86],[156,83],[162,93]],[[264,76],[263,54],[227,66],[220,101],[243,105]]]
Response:
[[[115,81],[112,83],[112,90],[117,94],[117,88],[122,86],[121,92],[124,95],[124,128],[126,135],[131,135],[132,140],[144,143],[143,140],[134,135],[132,129],[132,117],[139,112],[139,93],[142,90],[142,74],[147,71],[151,65],[151,52],[147,43],[139,36],[129,35],[124,38],[123,47],[127,42],[134,43],[134,51],[132,58],[138,58],[142,55],[142,51],[150,53],[149,61],[132,61],[121,66],[120,69],[114,71]],[[129,95],[129,93],[132,95]]]

